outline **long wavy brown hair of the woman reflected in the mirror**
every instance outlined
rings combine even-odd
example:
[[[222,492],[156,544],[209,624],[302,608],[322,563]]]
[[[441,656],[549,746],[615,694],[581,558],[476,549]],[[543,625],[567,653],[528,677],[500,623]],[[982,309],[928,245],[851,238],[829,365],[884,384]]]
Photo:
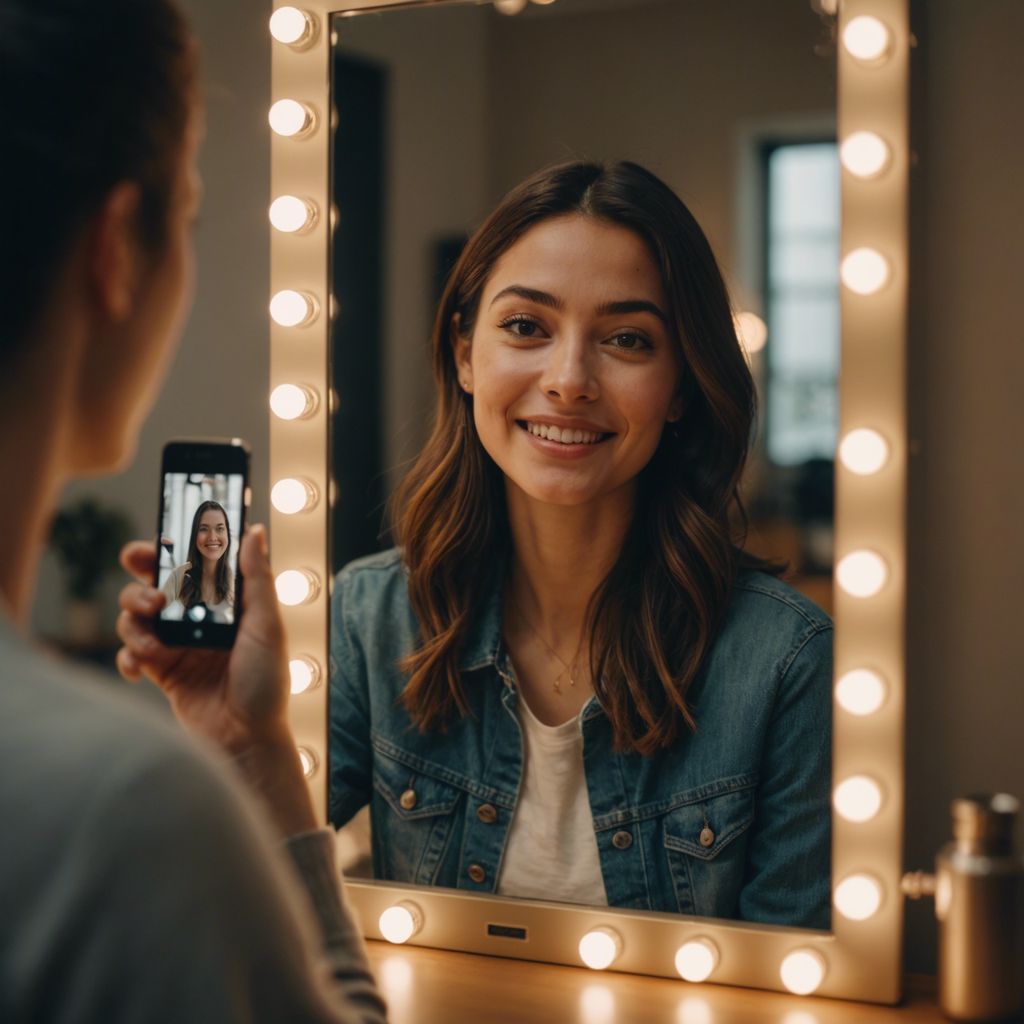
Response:
[[[511,551],[502,473],[458,382],[455,316],[460,333],[472,337],[498,259],[536,224],[566,214],[597,217],[644,240],[684,367],[682,418],[665,429],[640,474],[622,551],[587,611],[591,675],[616,746],[648,755],[695,728],[687,692],[721,627],[737,569],[774,566],[745,555],[730,525],[745,522],[737,488],[755,389],[721,271],[682,201],[629,162],[566,163],[534,174],[477,229],[449,279],[432,334],[433,430],[391,504],[421,639],[402,662],[410,679],[401,701],[422,730],[469,713],[459,657]]]

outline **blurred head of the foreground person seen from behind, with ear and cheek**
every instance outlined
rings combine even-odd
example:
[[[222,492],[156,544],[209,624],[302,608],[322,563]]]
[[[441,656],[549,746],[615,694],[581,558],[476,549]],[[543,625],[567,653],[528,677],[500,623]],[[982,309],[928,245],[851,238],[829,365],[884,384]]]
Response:
[[[131,454],[180,330],[196,65],[171,0],[0,2],[0,367],[59,339],[65,473]]]

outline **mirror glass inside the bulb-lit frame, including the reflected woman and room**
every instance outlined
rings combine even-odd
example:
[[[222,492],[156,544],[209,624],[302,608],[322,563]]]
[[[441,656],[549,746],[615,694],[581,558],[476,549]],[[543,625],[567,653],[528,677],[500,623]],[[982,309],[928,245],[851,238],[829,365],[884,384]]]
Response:
[[[827,928],[831,18],[333,30],[332,821],[380,879]]]

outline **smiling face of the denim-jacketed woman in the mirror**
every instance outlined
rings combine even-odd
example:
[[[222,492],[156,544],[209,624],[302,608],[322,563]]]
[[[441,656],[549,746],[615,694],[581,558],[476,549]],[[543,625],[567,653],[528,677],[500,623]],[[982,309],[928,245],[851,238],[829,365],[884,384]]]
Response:
[[[681,413],[657,266],[637,234],[594,217],[543,221],[504,253],[456,361],[480,441],[539,502],[632,493]]]

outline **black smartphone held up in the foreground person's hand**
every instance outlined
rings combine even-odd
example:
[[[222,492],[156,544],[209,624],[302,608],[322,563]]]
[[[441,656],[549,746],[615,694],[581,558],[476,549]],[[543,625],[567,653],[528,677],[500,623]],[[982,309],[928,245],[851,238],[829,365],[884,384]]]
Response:
[[[239,628],[239,543],[246,526],[249,445],[238,437],[168,441],[160,468],[156,621],[172,646],[230,647]]]

